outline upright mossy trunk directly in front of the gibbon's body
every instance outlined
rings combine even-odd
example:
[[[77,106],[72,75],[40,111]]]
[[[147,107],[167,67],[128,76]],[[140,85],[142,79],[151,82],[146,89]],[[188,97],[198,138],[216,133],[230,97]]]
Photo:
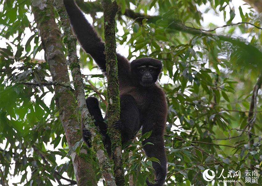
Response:
[[[117,2],[111,0],[103,0],[104,9],[104,40],[105,40],[105,58],[106,58],[106,74],[107,74],[107,114],[108,114],[108,135],[111,140],[111,151],[114,161],[114,175],[117,186],[125,184],[121,133],[113,127],[113,124],[120,118],[120,98],[119,98],[119,82],[116,55],[116,31],[115,16],[118,10]]]

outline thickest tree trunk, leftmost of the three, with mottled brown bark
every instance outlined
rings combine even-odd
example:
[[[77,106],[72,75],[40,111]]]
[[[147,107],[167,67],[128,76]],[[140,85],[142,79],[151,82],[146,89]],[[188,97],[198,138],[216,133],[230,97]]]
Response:
[[[39,29],[39,35],[45,58],[49,64],[49,71],[54,81],[69,83],[68,69],[65,64],[61,32],[54,16],[51,0],[32,0],[32,12]],[[69,83],[70,84],[70,83]],[[69,148],[81,139],[80,123],[75,114],[76,102],[72,93],[65,87],[55,86],[56,105],[59,109],[59,119],[63,125]],[[96,185],[92,164],[88,162],[88,149],[81,149],[79,156],[71,154],[77,185]]]

